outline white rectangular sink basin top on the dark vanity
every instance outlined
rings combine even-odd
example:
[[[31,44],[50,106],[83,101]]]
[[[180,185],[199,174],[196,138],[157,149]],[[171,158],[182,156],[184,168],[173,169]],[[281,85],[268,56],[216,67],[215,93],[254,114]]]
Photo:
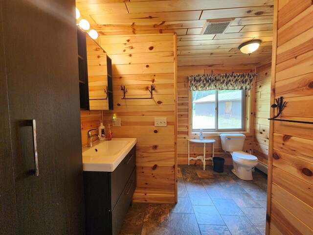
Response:
[[[136,138],[112,138],[111,141],[94,141],[93,147],[83,147],[83,170],[112,172],[136,141]]]

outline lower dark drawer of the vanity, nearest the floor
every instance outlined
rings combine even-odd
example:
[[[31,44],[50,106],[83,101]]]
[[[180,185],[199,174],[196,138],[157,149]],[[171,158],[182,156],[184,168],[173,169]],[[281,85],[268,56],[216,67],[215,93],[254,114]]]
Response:
[[[135,188],[136,188],[136,167],[134,167],[133,173],[129,178],[125,188],[123,188],[123,192],[120,198],[118,199],[114,207],[114,210],[112,211],[112,235],[119,234],[125,215],[132,202]]]

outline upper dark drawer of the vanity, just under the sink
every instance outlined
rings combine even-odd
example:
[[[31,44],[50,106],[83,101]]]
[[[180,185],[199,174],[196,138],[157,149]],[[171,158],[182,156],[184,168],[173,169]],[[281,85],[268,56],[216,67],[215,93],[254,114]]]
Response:
[[[136,165],[136,145],[126,155],[122,162],[116,167],[111,174],[111,209],[120,197],[133,169]]]

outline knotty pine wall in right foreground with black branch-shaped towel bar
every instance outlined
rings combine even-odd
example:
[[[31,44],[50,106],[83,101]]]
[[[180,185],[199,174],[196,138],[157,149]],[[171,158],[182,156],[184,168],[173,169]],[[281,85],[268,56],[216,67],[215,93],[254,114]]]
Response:
[[[288,102],[282,118],[312,122],[313,2],[279,0],[275,15],[271,100]],[[267,232],[313,234],[313,125],[271,121],[270,127]]]

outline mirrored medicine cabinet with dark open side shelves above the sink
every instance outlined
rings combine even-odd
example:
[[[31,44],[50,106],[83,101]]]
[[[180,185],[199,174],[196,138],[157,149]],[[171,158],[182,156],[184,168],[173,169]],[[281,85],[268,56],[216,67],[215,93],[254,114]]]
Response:
[[[113,110],[112,60],[88,33],[77,28],[81,110]]]

